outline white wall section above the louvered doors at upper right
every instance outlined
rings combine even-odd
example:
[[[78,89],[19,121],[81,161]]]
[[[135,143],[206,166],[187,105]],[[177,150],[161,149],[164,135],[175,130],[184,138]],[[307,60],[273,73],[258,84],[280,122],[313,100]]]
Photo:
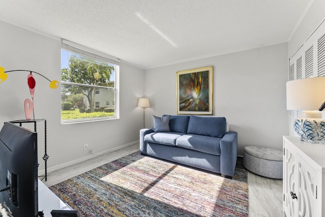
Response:
[[[325,1],[314,0],[306,15],[288,42],[288,57],[291,57],[325,19]]]

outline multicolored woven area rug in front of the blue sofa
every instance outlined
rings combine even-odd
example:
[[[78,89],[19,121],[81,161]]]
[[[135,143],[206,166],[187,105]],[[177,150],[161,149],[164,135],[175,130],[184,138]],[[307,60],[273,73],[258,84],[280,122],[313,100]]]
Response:
[[[132,153],[50,189],[81,216],[247,216],[247,170],[233,179]]]

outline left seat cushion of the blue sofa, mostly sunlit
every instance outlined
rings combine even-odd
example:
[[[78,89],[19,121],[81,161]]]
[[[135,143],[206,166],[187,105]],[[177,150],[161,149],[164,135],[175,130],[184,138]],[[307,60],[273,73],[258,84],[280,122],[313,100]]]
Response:
[[[169,133],[169,132],[159,132],[159,133],[150,133],[145,135],[144,141],[151,143],[158,143],[163,145],[176,145],[176,140],[183,134]]]

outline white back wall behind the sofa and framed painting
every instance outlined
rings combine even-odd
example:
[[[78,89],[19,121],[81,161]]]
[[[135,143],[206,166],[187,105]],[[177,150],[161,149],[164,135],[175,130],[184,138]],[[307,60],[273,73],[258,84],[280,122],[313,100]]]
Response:
[[[176,114],[176,72],[213,66],[213,116],[224,116],[238,132],[238,154],[248,145],[282,149],[288,135],[285,82],[287,43],[230,53],[145,71],[151,115]]]

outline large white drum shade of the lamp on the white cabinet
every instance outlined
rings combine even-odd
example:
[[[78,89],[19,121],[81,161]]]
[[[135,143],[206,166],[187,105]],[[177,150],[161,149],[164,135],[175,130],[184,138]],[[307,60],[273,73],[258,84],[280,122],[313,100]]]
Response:
[[[318,110],[325,101],[325,77],[286,82],[287,110]]]

